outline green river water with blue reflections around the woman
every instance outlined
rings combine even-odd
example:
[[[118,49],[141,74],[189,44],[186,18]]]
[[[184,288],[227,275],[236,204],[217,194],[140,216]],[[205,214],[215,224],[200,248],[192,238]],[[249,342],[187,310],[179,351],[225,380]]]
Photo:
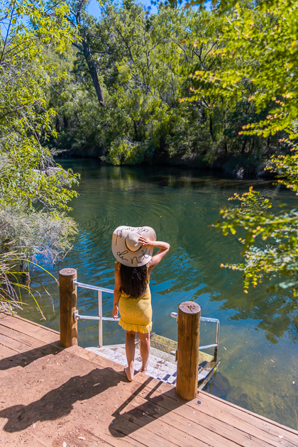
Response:
[[[82,175],[79,198],[72,202],[79,235],[63,263],[50,267],[53,275],[62,267],[75,267],[80,282],[113,288],[112,231],[123,224],[153,226],[158,239],[171,244],[151,276],[153,331],[177,340],[170,312],[185,300],[197,302],[202,316],[221,321],[222,360],[207,391],[298,429],[298,311],[286,296],[267,294],[265,286],[243,293],[241,275],[219,267],[241,259],[241,244],[208,227],[219,218],[219,206],[250,185],[292,208],[297,198],[278,192],[269,181],[228,180],[206,172],[100,167],[94,160],[64,160],[62,165]],[[59,330],[57,286],[41,271],[35,278],[53,295],[55,313],[42,293],[47,320],[40,321],[32,309],[21,316]],[[104,314],[111,316],[112,296],[104,294],[103,299]],[[96,294],[79,289],[78,307],[81,314],[96,315]],[[214,343],[214,329],[202,323],[201,346]],[[124,335],[117,323],[104,323],[104,344],[122,343]],[[97,346],[96,322],[79,321],[79,344]]]

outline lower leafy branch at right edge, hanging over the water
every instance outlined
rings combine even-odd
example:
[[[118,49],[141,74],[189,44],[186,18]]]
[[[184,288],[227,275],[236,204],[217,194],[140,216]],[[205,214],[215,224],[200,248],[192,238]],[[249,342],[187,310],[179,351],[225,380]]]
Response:
[[[268,199],[250,187],[249,192],[239,196],[234,194],[230,200],[239,202],[239,206],[222,209],[223,221],[214,225],[223,236],[228,231],[244,230],[245,237],[238,238],[243,245],[242,254],[245,263],[221,265],[233,270],[242,270],[244,288],[255,287],[267,279],[273,282],[270,288],[289,289],[293,297],[298,292],[298,209],[291,211],[271,211]],[[277,281],[278,277],[285,280]]]

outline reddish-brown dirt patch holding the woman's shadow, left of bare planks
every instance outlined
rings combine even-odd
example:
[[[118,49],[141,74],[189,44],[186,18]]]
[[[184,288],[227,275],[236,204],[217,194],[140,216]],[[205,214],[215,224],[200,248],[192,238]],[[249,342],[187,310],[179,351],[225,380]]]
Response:
[[[0,446],[114,445],[106,439],[112,437],[111,415],[139,384],[67,350],[42,349],[43,357],[33,350],[31,357],[23,355],[24,365],[8,370],[2,360]]]

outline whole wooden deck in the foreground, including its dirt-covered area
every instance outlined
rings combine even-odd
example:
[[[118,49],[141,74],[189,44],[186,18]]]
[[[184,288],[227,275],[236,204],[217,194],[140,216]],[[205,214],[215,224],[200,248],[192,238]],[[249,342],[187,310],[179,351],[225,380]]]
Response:
[[[59,333],[0,314],[0,446],[298,446],[298,432],[206,392],[175,387],[84,348]]]

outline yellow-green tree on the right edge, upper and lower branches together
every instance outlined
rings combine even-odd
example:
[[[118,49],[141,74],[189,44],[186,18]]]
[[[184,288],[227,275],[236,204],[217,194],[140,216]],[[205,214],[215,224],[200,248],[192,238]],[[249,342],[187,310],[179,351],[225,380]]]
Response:
[[[218,13],[233,3],[219,2]],[[206,92],[223,97],[229,104],[247,100],[258,113],[268,110],[255,123],[245,123],[241,136],[274,138],[285,133],[279,144],[286,155],[272,156],[267,170],[277,174],[278,183],[298,190],[297,155],[297,1],[260,1],[257,5],[236,4],[226,16],[220,38],[221,48],[214,53],[223,60],[221,70],[194,73],[194,95]],[[236,60],[236,65],[230,61]],[[245,84],[253,85],[253,93],[245,96]],[[221,210],[223,221],[216,228],[226,235],[243,229],[244,263],[226,265],[242,270],[245,292],[248,285],[270,280],[272,288],[287,289],[290,296],[298,291],[298,211],[272,211],[272,204],[259,192],[250,191],[231,200],[239,205]],[[259,243],[260,241],[260,243]]]

